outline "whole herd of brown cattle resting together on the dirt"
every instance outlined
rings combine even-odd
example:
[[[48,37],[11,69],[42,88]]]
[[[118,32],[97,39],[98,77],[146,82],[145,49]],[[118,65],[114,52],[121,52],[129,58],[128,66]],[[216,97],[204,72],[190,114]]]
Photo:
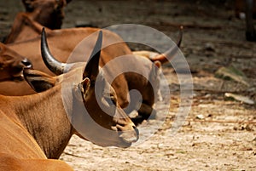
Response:
[[[160,66],[177,48],[164,54],[132,52],[112,31],[61,29],[63,8],[70,1],[22,0],[26,12],[16,15],[0,43],[0,170],[73,170],[57,160],[73,134],[96,145],[129,147],[139,139],[137,125],[154,113]],[[252,40],[249,20],[247,39]],[[177,47],[181,40],[182,31]],[[148,76],[121,73],[109,83],[107,76],[124,64],[102,67],[124,55],[129,56],[125,65]],[[63,101],[66,88],[69,94]],[[141,99],[130,97],[132,89]],[[134,111],[137,115],[131,117]]]

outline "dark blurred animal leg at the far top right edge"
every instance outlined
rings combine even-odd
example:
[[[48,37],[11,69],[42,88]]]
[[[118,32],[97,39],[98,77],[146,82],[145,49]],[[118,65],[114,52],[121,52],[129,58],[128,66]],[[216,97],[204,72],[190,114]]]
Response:
[[[246,0],[246,25],[247,41],[256,41],[256,34],[253,26],[253,0]]]

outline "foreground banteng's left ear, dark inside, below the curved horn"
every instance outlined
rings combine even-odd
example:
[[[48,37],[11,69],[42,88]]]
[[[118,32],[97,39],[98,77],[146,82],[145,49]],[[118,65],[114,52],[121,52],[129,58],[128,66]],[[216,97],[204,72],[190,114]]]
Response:
[[[55,77],[51,77],[42,71],[24,69],[23,75],[26,82],[38,93],[55,86]]]

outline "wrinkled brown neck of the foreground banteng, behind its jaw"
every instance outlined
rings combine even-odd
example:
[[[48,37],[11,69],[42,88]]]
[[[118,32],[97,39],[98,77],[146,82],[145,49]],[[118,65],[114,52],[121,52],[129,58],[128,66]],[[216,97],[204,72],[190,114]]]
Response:
[[[40,94],[15,97],[13,108],[48,158],[59,158],[73,134],[64,111],[61,85]]]

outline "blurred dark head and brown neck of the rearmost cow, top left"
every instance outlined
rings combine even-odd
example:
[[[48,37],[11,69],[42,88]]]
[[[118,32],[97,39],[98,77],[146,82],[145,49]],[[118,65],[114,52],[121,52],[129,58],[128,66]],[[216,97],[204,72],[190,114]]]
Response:
[[[4,43],[15,43],[18,39],[22,41],[40,35],[42,31],[40,26],[52,30],[60,29],[64,19],[64,7],[70,1],[22,0],[26,12],[16,15],[9,36],[5,38]]]

